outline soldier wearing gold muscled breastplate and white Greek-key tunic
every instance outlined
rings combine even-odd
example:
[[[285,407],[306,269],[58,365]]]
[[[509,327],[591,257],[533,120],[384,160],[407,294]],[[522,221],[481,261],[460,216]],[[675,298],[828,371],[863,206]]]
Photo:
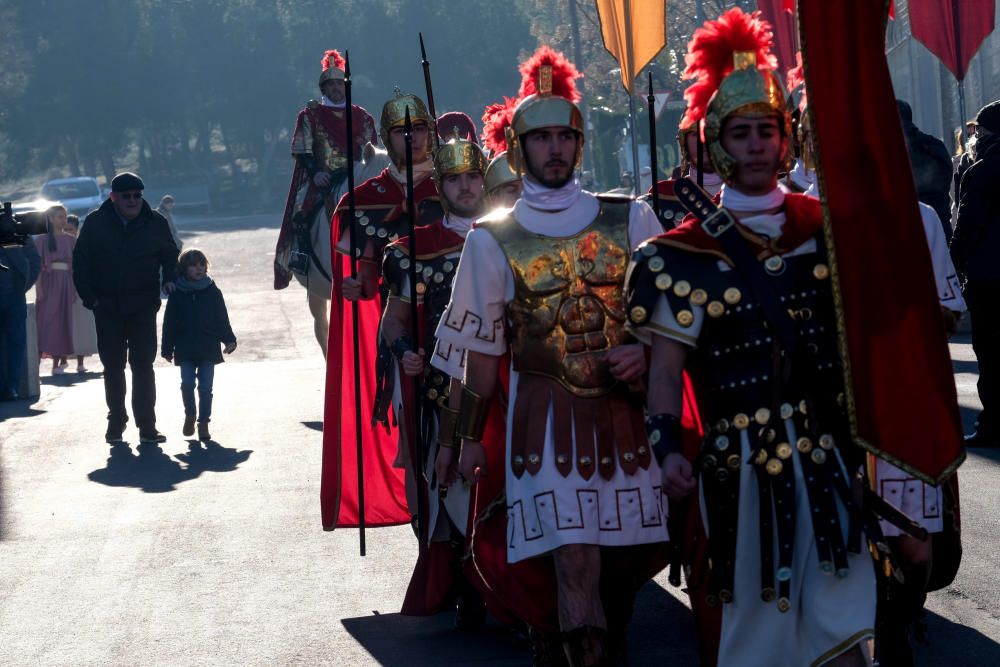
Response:
[[[499,458],[483,442],[509,351],[506,562],[554,570],[567,658],[604,664],[667,539],[623,301],[628,256],[660,226],[645,204],[582,191],[575,66],[541,47],[520,69],[506,135],[521,198],[467,236],[437,346],[466,351],[455,436],[470,482]]]

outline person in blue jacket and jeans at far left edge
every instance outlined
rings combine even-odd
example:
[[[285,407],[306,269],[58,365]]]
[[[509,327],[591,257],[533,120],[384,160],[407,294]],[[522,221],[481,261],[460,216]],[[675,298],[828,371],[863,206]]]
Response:
[[[41,259],[34,244],[0,247],[0,401],[16,401],[28,341],[28,306],[24,298],[38,278]]]

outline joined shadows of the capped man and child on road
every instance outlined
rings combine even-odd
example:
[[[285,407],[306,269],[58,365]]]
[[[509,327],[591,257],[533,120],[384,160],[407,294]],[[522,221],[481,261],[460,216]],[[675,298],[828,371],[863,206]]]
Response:
[[[142,489],[146,493],[174,491],[177,485],[199,477],[203,472],[230,472],[250,458],[252,450],[236,450],[210,441],[190,441],[188,451],[174,460],[159,445],[136,447],[138,454],[125,443],[111,446],[107,465],[87,475],[92,482],[105,486]],[[185,465],[181,465],[184,463]]]

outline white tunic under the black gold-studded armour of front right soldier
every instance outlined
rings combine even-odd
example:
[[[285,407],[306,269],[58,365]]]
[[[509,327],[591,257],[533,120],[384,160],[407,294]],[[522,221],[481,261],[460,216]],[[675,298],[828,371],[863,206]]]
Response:
[[[758,234],[775,238],[780,234],[785,216],[784,213],[761,215],[740,222]],[[815,241],[810,239],[784,256],[810,254],[816,250]],[[729,270],[722,262],[719,268]],[[694,323],[681,327],[667,298],[661,294],[649,323],[635,333],[646,341],[658,335],[696,347],[705,314],[703,306],[692,304],[691,309]],[[795,442],[792,420],[785,421],[785,429],[786,442]],[[740,433],[740,443],[743,460],[750,460],[746,431]],[[874,632],[875,574],[871,557],[864,550],[860,554],[848,553],[849,571],[842,579],[820,570],[798,452],[793,454],[792,461],[795,469],[795,546],[789,596],[791,610],[781,613],[773,602],[763,602],[760,597],[760,499],[752,466],[744,465],[740,470],[736,540],[739,569],[734,581],[733,602],[722,606],[719,665],[802,667],[822,664],[821,659],[829,660]],[[704,517],[704,496],[700,501]],[[840,525],[846,528],[847,512],[839,499],[836,503]],[[705,531],[708,532],[707,525]]]

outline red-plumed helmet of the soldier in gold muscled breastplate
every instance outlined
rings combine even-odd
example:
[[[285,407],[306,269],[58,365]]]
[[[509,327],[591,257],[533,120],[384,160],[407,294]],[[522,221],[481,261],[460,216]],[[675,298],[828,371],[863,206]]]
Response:
[[[521,137],[544,127],[568,127],[580,135],[583,142],[583,114],[576,102],[580,93],[574,79],[581,76],[576,66],[563,54],[547,46],[539,47],[520,67],[521,101],[507,128],[507,162],[518,176],[524,174],[524,153]],[[580,168],[583,151],[578,150],[575,169]]]

